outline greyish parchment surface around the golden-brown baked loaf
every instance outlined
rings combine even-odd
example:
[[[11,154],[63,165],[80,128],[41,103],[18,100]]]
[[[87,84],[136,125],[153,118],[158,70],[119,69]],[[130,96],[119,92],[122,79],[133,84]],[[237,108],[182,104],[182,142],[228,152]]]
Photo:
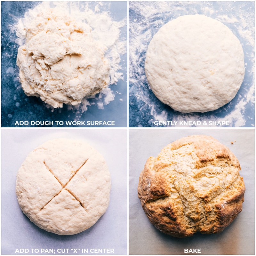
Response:
[[[238,158],[246,187],[243,210],[219,234],[176,238],[157,230],[144,213],[137,194],[140,172],[150,156],[167,144],[194,134],[210,135]],[[233,144],[231,144],[231,141]],[[254,254],[254,129],[129,129],[129,254]],[[194,253],[196,254],[196,253]]]

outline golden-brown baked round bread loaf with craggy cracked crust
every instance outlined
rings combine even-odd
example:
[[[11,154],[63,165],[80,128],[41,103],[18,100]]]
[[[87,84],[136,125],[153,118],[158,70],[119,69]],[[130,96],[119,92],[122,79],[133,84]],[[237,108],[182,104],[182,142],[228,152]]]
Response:
[[[148,158],[138,195],[149,220],[165,234],[218,233],[242,211],[239,171],[236,156],[218,140],[188,136]]]

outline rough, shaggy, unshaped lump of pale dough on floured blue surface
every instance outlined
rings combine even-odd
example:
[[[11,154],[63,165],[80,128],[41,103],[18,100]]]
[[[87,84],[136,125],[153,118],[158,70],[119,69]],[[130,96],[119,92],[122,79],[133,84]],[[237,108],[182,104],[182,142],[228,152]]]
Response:
[[[32,20],[18,49],[22,89],[54,108],[77,105],[108,86],[105,50],[87,24],[50,8]]]

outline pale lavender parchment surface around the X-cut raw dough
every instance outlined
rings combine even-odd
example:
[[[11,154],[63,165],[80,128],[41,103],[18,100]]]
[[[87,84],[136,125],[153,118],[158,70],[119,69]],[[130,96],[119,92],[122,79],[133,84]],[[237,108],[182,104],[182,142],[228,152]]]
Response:
[[[15,194],[16,174],[25,157],[47,140],[84,140],[105,158],[111,175],[107,211],[89,229],[59,236],[38,228],[20,210]],[[127,254],[127,131],[126,129],[4,129],[2,128],[2,255],[95,253],[91,249],[114,249],[111,254]],[[16,249],[39,249],[39,253],[15,253]],[[58,249],[63,249],[58,253]],[[64,251],[64,249],[70,249]],[[71,249],[79,249],[76,253]],[[88,249],[83,253],[82,249]],[[51,253],[52,254],[52,253]]]

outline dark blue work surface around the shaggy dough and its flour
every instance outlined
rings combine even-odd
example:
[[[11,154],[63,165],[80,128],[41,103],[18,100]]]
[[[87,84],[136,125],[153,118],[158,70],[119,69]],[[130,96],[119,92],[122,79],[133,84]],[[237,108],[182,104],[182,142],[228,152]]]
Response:
[[[46,3],[46,2],[44,2]],[[47,2],[48,3],[48,2]],[[86,98],[84,104],[72,107],[64,104],[63,108],[52,108],[37,97],[28,97],[21,88],[19,68],[16,65],[17,51],[20,44],[14,25],[24,17],[30,9],[34,9],[41,2],[1,2],[2,4],[2,127],[106,127],[93,123],[80,125],[66,124],[65,121],[115,121],[115,127],[127,127],[127,2],[50,2],[55,4],[75,6],[99,14],[107,12],[113,21],[118,22],[120,28],[119,43],[126,51],[120,51],[120,69],[122,73],[116,84],[109,85],[109,91]],[[79,6],[79,7],[77,7]],[[107,22],[106,22],[107,23]],[[109,37],[112,35],[109,34]],[[119,45],[118,45],[119,44]],[[116,56],[117,58],[118,56]],[[113,98],[112,98],[113,97]],[[89,104],[89,105],[88,105]],[[28,125],[16,121],[28,121]],[[54,124],[32,123],[31,121],[53,121]],[[58,125],[55,121],[63,121]]]

